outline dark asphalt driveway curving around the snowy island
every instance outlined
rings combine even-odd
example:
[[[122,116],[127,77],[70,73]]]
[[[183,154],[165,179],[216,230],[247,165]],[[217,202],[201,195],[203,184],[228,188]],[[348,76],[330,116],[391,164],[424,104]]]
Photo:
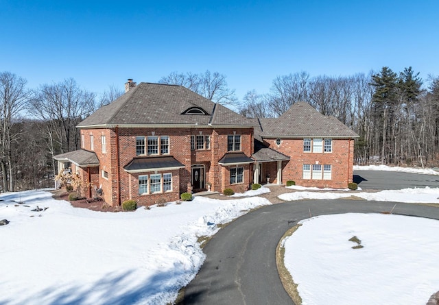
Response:
[[[372,181],[375,175],[379,177],[382,173],[389,174],[372,171],[360,174],[368,180],[370,188],[378,189],[372,185]],[[412,175],[393,174],[391,181],[395,181],[396,176],[405,180],[404,177]],[[356,171],[355,175],[359,173]],[[436,176],[416,175],[416,179],[428,182],[436,180]],[[377,181],[380,181],[379,184],[385,182]],[[368,188],[361,184],[361,188]],[[401,184],[401,188],[404,187],[407,186]],[[219,230],[204,247],[206,261],[195,279],[186,287],[182,304],[294,304],[283,289],[276,269],[276,246],[283,234],[298,221],[309,218],[310,211],[311,216],[344,212],[388,212],[394,204],[345,199],[301,200],[265,206],[241,216]],[[398,203],[393,212],[439,219],[439,208],[431,206]]]

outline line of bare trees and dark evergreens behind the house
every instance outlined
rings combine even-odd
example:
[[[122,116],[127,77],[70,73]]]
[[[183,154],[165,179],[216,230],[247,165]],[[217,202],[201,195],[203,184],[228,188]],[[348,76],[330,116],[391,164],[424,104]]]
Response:
[[[158,82],[185,86],[246,117],[278,117],[297,101],[307,101],[359,134],[357,164],[437,166],[439,77],[423,86],[411,67],[337,77],[290,73],[276,77],[268,93],[249,90],[241,100],[218,72],[173,72]],[[72,78],[32,90],[26,84],[23,77],[0,72],[0,191],[53,186],[52,157],[80,147],[75,126],[123,94],[110,86],[97,95]]]

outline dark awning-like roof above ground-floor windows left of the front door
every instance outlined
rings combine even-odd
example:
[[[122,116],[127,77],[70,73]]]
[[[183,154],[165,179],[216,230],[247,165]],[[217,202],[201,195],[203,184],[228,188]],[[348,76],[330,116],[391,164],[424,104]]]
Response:
[[[173,169],[182,169],[183,167],[185,165],[178,162],[172,156],[158,156],[134,158],[123,169],[128,173],[142,173],[145,171],[171,171]]]

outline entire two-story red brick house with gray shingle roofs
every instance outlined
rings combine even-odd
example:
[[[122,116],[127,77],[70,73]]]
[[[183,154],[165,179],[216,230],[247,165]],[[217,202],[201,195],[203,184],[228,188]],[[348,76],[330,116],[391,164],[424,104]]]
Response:
[[[125,95],[78,128],[81,148],[55,156],[58,168],[77,173],[88,197],[102,188],[112,206],[208,188],[242,192],[270,179],[346,188],[353,178],[357,135],[307,103],[277,119],[247,119],[182,86],[128,80]]]

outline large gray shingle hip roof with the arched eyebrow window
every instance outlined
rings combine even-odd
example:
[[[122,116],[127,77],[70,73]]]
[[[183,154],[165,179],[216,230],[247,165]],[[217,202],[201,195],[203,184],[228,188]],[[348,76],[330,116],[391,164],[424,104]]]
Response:
[[[206,115],[182,114],[202,108]],[[78,127],[93,125],[251,125],[251,121],[193,91],[177,85],[140,83],[107,106],[99,108]]]

